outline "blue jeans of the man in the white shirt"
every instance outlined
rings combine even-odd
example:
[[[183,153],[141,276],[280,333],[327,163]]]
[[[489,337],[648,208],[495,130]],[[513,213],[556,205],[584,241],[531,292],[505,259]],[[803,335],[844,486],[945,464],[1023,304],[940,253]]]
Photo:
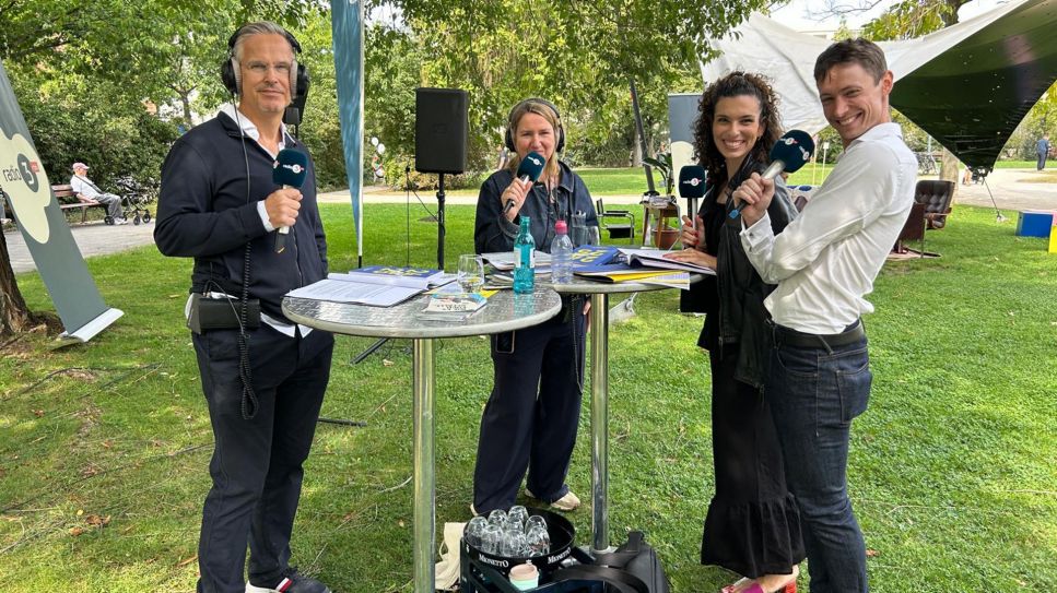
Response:
[[[811,593],[867,592],[866,544],[848,499],[852,420],[870,399],[864,336],[831,347],[783,344],[772,351],[765,395],[800,507]]]

